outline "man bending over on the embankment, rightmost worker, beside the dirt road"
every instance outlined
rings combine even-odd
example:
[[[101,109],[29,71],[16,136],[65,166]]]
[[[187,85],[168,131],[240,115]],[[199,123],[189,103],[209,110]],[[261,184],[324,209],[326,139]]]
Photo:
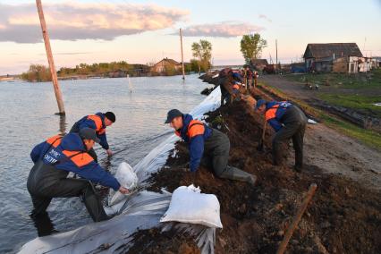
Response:
[[[267,102],[264,99],[258,100],[256,110],[259,114],[265,114],[265,121],[276,132],[273,138],[274,165],[282,165],[281,143],[292,139],[295,150],[294,169],[301,172],[303,168],[303,138],[308,120],[306,114],[290,102]]]

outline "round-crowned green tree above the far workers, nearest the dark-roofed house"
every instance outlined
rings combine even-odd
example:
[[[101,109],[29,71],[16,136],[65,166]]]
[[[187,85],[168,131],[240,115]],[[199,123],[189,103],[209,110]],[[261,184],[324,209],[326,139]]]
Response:
[[[246,64],[249,64],[252,58],[260,57],[264,47],[267,47],[266,39],[260,38],[258,33],[254,35],[246,34],[241,38],[241,53],[245,58]]]

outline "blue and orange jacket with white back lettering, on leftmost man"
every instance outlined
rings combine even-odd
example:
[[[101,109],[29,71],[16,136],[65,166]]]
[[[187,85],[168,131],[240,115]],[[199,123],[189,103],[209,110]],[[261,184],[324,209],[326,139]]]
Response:
[[[30,157],[34,163],[42,160],[47,165],[55,165],[57,170],[65,170],[80,175],[92,182],[119,190],[121,185],[113,175],[106,172],[86,152],[78,133],[54,136],[32,149]]]

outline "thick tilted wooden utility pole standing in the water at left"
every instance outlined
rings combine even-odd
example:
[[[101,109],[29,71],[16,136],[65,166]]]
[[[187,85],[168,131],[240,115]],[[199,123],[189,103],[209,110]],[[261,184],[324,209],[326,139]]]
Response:
[[[55,72],[55,61],[53,60],[52,48],[50,47],[49,35],[47,33],[47,23],[42,10],[41,0],[36,0],[39,22],[41,23],[42,37],[44,38],[45,48],[47,49],[47,62],[49,63],[50,73],[52,74],[53,87],[55,89],[55,98],[58,104],[58,114],[65,114],[63,107],[63,94],[58,85],[57,72]]]

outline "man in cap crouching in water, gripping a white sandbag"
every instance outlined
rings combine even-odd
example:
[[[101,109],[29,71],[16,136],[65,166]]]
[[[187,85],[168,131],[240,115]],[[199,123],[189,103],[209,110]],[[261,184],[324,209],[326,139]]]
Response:
[[[30,153],[35,165],[30,170],[27,187],[33,203],[31,217],[47,216],[47,207],[53,198],[82,197],[91,218],[103,221],[108,217],[91,182],[119,190],[123,188],[113,175],[98,165],[88,151],[99,142],[97,134],[90,128],[80,133],[54,136],[38,144]],[[69,172],[83,179],[67,178]]]

